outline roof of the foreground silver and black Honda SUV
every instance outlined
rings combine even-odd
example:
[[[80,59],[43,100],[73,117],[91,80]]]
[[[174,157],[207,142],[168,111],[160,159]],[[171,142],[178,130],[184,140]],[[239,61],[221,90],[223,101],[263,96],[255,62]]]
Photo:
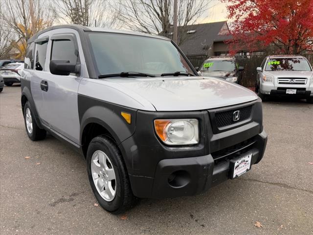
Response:
[[[63,24],[63,25],[52,26],[52,27],[46,28],[46,29],[36,33],[27,41],[27,43],[31,43],[32,41],[37,39],[39,35],[47,32],[47,31],[50,31],[53,29],[58,29],[58,28],[71,28],[71,29],[75,29],[75,30],[80,31],[80,32],[106,32],[106,33],[129,34],[129,35],[145,36],[145,37],[158,38],[158,39],[164,39],[164,40],[170,41],[169,38],[158,36],[158,35],[153,35],[153,34],[148,34],[148,33],[126,31],[126,30],[116,30],[116,29],[109,29],[109,28],[88,27],[88,26],[83,26],[83,25],[79,25],[79,24]]]

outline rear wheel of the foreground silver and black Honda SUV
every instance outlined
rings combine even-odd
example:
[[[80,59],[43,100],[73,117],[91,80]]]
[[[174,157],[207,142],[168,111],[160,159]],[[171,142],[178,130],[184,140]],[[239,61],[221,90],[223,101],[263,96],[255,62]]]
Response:
[[[38,127],[35,118],[32,118],[33,112],[30,108],[28,101],[24,106],[24,123],[26,133],[32,141],[40,141],[45,139],[46,131]]]

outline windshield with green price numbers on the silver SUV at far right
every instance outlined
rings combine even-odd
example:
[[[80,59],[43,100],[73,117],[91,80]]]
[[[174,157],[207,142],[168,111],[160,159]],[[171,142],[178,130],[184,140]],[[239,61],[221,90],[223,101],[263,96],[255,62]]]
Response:
[[[311,68],[304,58],[275,58],[268,60],[265,71],[311,71]]]

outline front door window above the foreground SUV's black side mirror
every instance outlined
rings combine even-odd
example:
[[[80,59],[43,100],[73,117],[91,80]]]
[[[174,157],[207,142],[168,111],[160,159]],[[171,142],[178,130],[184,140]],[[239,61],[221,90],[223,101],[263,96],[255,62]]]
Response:
[[[68,60],[77,62],[74,43],[70,40],[54,40],[52,44],[51,60]]]

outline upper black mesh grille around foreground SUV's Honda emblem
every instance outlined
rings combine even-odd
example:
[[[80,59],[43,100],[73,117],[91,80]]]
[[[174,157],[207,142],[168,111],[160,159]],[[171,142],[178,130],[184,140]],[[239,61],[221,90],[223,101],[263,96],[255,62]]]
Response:
[[[234,121],[234,112],[236,111],[240,111],[240,117],[239,117],[239,120]],[[224,112],[216,113],[215,114],[216,125],[218,128],[220,128],[220,127],[229,126],[229,125],[247,120],[251,116],[251,111],[252,111],[252,105],[249,105],[243,108],[232,109],[232,110],[227,110]]]

